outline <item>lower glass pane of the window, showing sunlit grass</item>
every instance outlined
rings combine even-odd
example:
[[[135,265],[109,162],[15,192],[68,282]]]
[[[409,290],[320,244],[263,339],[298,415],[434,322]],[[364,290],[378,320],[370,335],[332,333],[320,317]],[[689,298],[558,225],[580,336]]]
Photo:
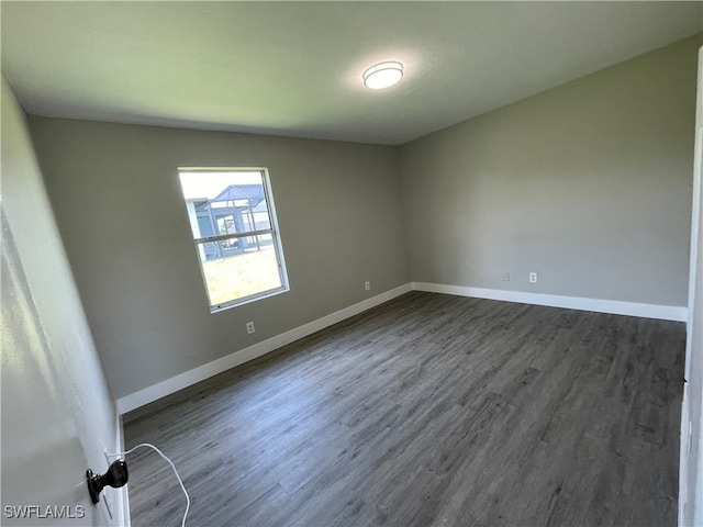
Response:
[[[198,244],[210,304],[282,287],[271,235]]]

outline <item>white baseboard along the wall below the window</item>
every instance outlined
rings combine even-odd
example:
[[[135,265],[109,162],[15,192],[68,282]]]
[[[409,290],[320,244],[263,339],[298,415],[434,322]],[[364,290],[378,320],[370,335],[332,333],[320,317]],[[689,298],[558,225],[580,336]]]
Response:
[[[120,397],[118,400],[118,411],[121,414],[131,412],[132,410],[144,406],[145,404],[175,393],[183,388],[188,388],[197,382],[204,381],[205,379],[230,370],[235,366],[239,366],[244,362],[261,357],[263,355],[298,340],[299,338],[312,335],[315,332],[332,326],[333,324],[342,322],[345,318],[349,318],[350,316],[357,315],[364,311],[370,310],[371,307],[382,304],[383,302],[388,302],[389,300],[410,291],[411,284],[405,283],[395,289],[391,289],[390,291],[386,291],[384,293],[359,302],[358,304],[350,305],[349,307],[345,307],[344,310],[339,310],[335,313],[323,316],[322,318],[317,318],[309,324],[295,327],[290,332],[282,333],[281,335],[277,335],[267,340],[255,344],[254,346],[249,346],[248,348],[244,348],[235,351],[234,354],[227,355],[226,357],[222,357],[221,359],[213,360],[212,362],[208,362],[207,365],[186,371],[179,375],[171,377],[170,379],[145,388],[144,390],[140,390],[138,392]]]

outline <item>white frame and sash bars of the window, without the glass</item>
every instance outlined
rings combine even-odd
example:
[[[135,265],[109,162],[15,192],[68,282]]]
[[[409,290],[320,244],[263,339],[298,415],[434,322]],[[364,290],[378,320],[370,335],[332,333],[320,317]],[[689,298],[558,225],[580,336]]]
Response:
[[[267,299],[269,296],[274,296],[280,293],[284,293],[290,291],[289,282],[288,282],[288,271],[286,269],[286,259],[283,257],[283,244],[280,237],[280,231],[278,228],[278,217],[276,215],[276,204],[274,203],[274,193],[271,192],[271,181],[268,173],[268,168],[266,167],[179,167],[178,175],[183,172],[260,172],[261,182],[264,183],[264,195],[266,199],[266,206],[268,210],[270,227],[264,229],[255,229],[247,231],[244,233],[232,233],[232,234],[221,234],[216,236],[205,236],[201,238],[194,238],[193,243],[196,247],[196,255],[198,256],[198,264],[200,266],[200,273],[202,276],[203,285],[205,288],[205,296],[208,299],[208,304],[210,305],[210,313],[217,313],[224,310],[228,310],[231,307],[236,307],[239,305],[248,304],[250,302],[256,302],[257,300]],[[179,181],[180,184],[180,181]],[[183,203],[187,204],[187,200],[183,200]],[[188,209],[186,206],[186,209]],[[193,236],[192,229],[190,231],[191,237]],[[276,261],[278,264],[278,273],[280,277],[281,285],[274,289],[267,289],[265,291],[260,291],[258,293],[249,294],[247,296],[241,296],[238,299],[234,299],[227,302],[221,302],[219,304],[213,304],[210,300],[210,290],[208,289],[208,280],[205,279],[205,271],[203,268],[203,261],[200,253],[200,247],[204,244],[212,242],[222,242],[224,239],[238,239],[246,238],[249,236],[261,236],[261,235],[271,235],[271,240],[274,245],[274,253],[276,254]]]

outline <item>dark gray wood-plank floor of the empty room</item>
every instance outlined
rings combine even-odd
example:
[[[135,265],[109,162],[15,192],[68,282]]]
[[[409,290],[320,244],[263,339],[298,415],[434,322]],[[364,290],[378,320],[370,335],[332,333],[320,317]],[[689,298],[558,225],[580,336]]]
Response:
[[[125,416],[189,526],[673,526],[684,325],[412,292]],[[132,525],[177,526],[155,452]]]

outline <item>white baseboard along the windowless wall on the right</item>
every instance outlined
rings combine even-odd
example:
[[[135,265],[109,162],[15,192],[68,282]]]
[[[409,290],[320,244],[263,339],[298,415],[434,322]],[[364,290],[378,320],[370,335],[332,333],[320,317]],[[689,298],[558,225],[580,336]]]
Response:
[[[444,285],[440,283],[412,282],[415,291],[429,293],[456,294],[477,299],[502,300],[520,304],[547,305],[569,310],[593,311],[612,315],[640,316],[663,321],[687,322],[689,310],[678,305],[640,304],[616,300],[583,299],[578,296],[560,296],[556,294],[525,293],[521,291],[503,291],[500,289],[466,288],[462,285]]]

